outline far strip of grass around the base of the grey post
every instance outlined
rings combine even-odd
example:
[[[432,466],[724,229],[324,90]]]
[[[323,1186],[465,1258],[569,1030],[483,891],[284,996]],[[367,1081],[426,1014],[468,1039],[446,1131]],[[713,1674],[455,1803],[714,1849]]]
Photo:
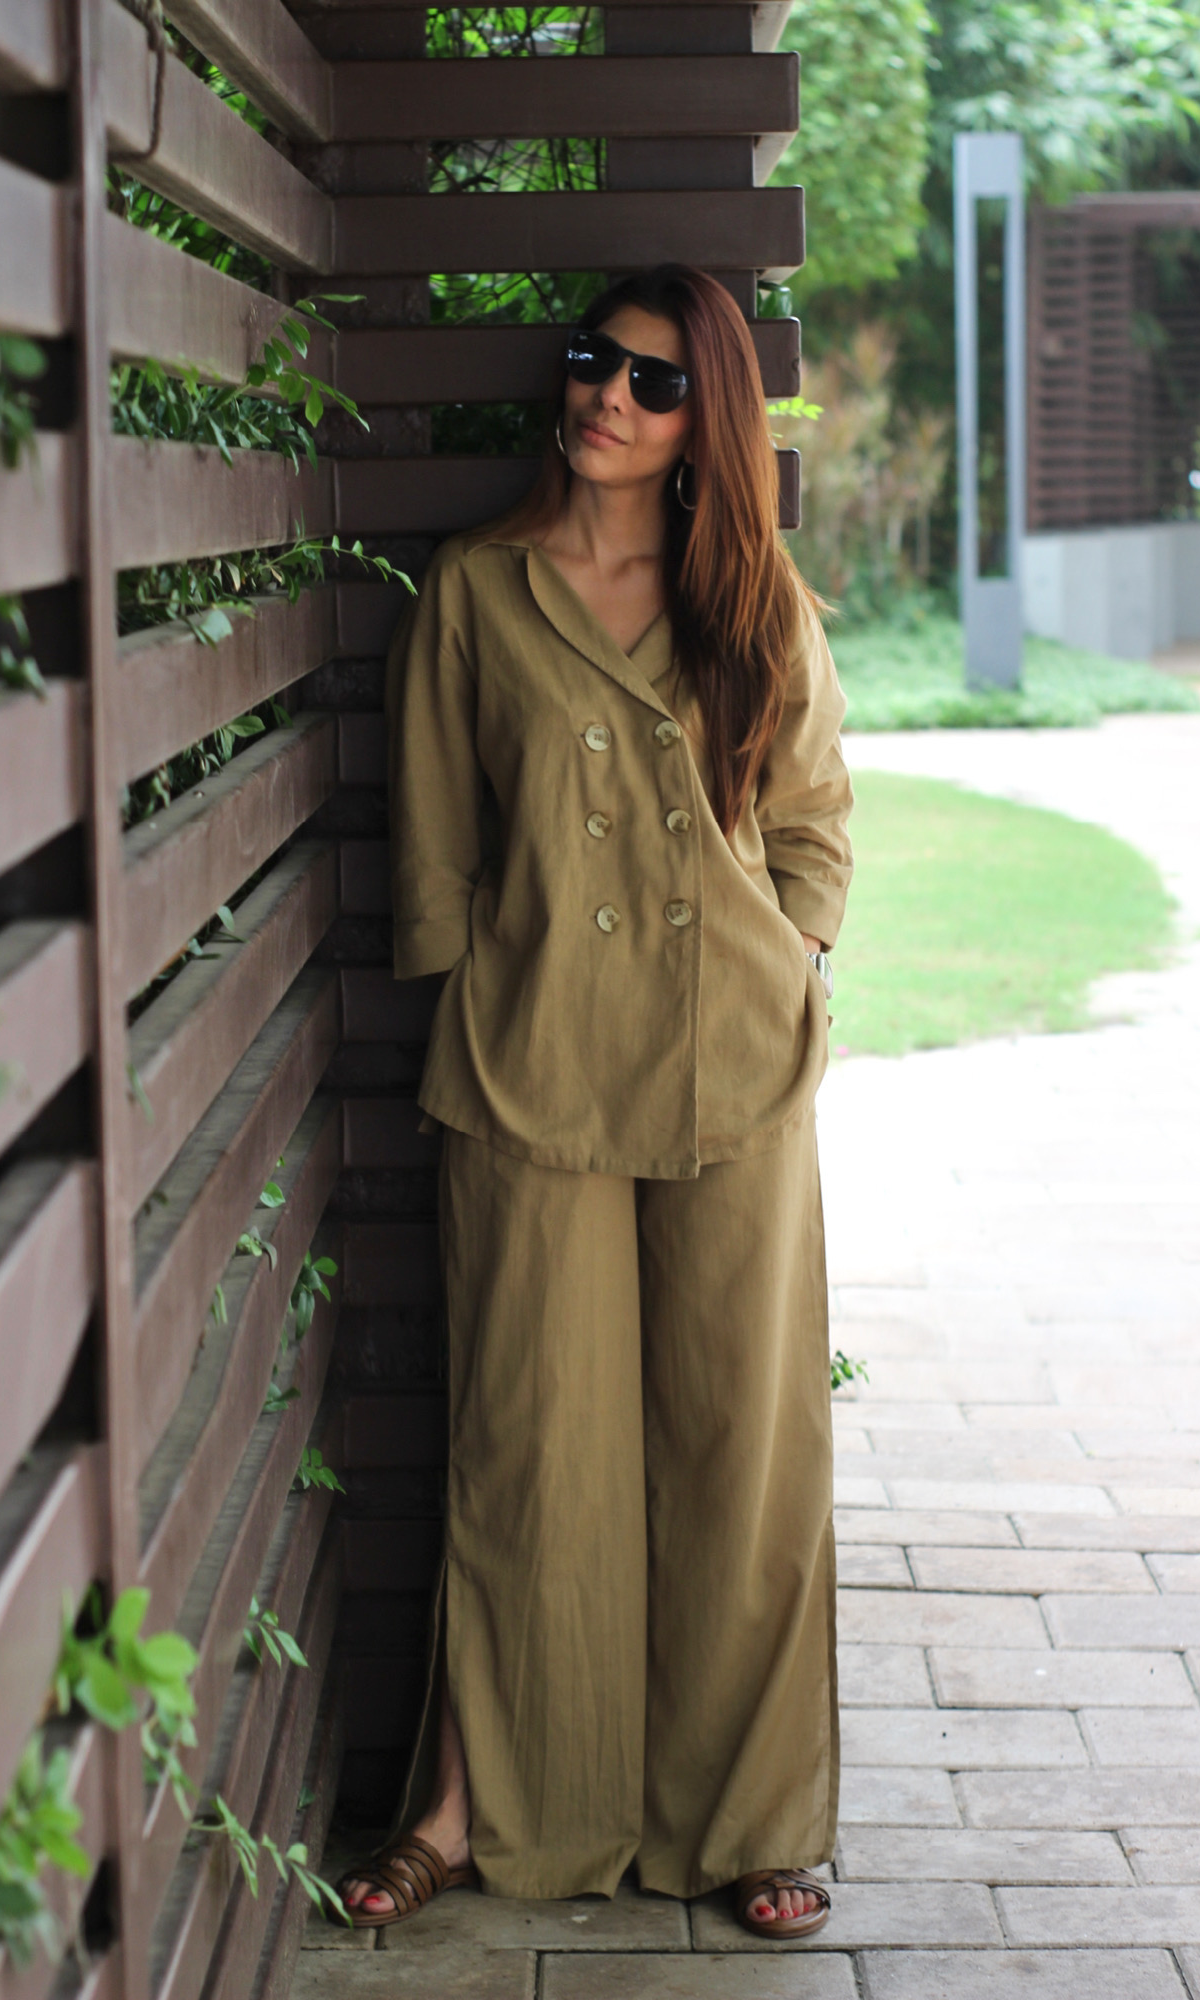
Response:
[[[1080,728],[1100,716],[1200,708],[1186,680],[1052,638],[1026,640],[1024,686],[966,688],[962,626],[940,612],[912,626],[834,622],[830,642],[848,730]]]

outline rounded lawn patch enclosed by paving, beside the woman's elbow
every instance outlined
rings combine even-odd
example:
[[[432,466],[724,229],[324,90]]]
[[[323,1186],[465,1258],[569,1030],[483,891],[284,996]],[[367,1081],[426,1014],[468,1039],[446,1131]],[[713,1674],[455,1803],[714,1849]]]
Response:
[[[932,778],[860,772],[854,790],[836,1054],[1086,1026],[1090,982],[1172,938],[1156,868],[1098,826]]]

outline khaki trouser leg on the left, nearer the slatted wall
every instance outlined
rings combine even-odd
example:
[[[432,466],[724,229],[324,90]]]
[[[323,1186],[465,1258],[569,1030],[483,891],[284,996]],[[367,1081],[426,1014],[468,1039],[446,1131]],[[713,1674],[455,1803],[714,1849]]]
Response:
[[[444,1134],[446,1670],[502,1896],[612,1894],[642,1828],[634,1182]]]

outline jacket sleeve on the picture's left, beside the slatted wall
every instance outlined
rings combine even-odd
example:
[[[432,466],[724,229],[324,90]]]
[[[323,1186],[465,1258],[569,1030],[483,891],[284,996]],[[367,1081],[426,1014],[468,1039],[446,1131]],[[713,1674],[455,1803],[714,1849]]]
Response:
[[[480,876],[476,682],[452,576],[434,558],[388,652],[392,966],[448,972],[470,942]]]

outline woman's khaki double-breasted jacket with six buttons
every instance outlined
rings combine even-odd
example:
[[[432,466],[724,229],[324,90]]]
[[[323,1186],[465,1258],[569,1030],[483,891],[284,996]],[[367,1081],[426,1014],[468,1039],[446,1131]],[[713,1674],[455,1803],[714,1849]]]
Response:
[[[732,838],[660,616],[632,654],[530,542],[442,544],[388,658],[396,978],[448,972],[422,1108],[540,1166],[690,1180],[810,1106],[850,882],[844,714],[806,618]]]

